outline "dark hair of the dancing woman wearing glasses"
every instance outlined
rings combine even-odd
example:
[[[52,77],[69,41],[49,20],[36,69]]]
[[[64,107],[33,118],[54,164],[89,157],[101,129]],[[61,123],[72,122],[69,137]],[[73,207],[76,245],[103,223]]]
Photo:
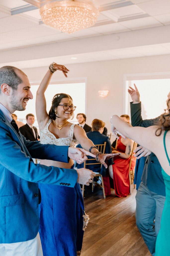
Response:
[[[51,105],[50,111],[48,113],[50,119],[52,119],[52,120],[56,119],[55,109],[60,104],[60,102],[63,98],[69,98],[69,97],[71,98],[71,96],[66,93],[57,93],[54,95],[53,100],[52,100],[52,105]],[[71,100],[73,100],[73,99],[71,98]],[[74,118],[74,113],[71,116],[71,119],[73,119],[73,118]]]

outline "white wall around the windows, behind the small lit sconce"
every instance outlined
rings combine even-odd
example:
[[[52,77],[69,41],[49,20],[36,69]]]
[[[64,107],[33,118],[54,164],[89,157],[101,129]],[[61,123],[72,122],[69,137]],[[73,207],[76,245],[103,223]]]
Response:
[[[69,78],[87,78],[87,124],[90,125],[94,118],[101,119],[110,132],[110,116],[123,114],[124,74],[170,71],[169,60],[170,55],[159,55],[67,65]],[[30,81],[41,80],[46,70],[47,67],[23,69]],[[57,71],[53,75],[55,78],[64,76]],[[109,90],[108,96],[100,98],[99,90]]]

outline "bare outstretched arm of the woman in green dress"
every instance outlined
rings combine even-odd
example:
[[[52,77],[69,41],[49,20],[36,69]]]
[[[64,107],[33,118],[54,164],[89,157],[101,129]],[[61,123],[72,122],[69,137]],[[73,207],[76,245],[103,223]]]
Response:
[[[113,133],[116,132],[116,130],[119,130],[126,137],[132,139],[139,145],[142,145],[145,148],[149,149],[151,152],[155,153],[155,144],[157,143],[157,139],[155,136],[155,126],[150,126],[147,128],[132,127],[130,124],[124,122],[117,115],[113,115],[110,122]]]

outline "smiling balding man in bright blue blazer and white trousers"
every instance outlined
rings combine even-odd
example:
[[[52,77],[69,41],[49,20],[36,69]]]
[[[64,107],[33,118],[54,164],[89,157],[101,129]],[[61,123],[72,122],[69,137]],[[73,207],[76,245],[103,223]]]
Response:
[[[33,98],[28,77],[15,67],[2,67],[0,86],[0,255],[40,256],[38,183],[89,185],[95,173],[34,164],[32,157],[65,163],[72,158],[82,163],[90,153],[25,140],[11,113],[25,110]]]

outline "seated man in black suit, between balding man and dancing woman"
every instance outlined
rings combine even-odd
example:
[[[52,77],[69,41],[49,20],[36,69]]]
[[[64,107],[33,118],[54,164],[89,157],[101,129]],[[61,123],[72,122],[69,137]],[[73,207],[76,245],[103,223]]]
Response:
[[[20,132],[26,140],[38,141],[40,136],[38,135],[37,128],[33,126],[35,121],[35,116],[33,114],[26,115],[27,123],[19,128]]]

